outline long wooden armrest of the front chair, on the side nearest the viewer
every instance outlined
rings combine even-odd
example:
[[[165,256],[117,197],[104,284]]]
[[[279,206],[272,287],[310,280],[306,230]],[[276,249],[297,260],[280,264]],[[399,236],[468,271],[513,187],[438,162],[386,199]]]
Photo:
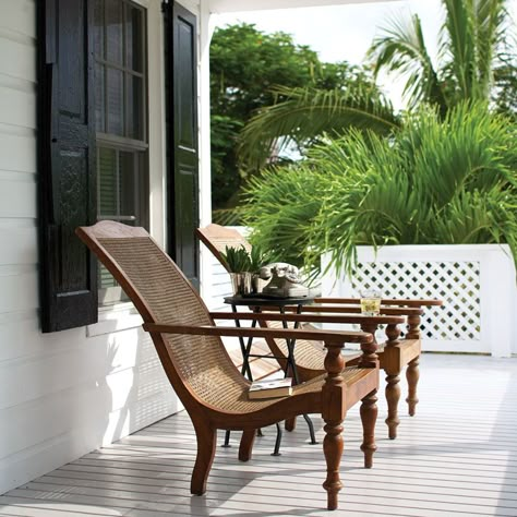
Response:
[[[164,325],[159,323],[144,323],[144,330],[159,334],[189,334],[195,336],[231,336],[231,337],[272,337],[284,339],[308,339],[325,342],[359,342],[371,344],[373,336],[364,332],[341,330],[304,330],[294,328],[239,328],[218,327],[212,325]]]

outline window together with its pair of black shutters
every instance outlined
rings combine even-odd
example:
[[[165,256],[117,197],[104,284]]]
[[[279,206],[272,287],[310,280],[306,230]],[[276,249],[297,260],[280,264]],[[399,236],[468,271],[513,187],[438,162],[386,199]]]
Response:
[[[75,229],[108,217],[148,228],[151,188],[161,197],[167,183],[167,214],[153,216],[197,280],[197,21],[172,1],[35,5],[40,322],[50,333],[97,321],[98,265]],[[161,21],[164,38],[149,38],[147,27]],[[149,63],[151,52],[160,59]],[[149,73],[165,79],[153,92]],[[165,128],[163,142],[149,142],[147,103],[159,110],[153,123]],[[104,291],[109,281],[101,278]]]

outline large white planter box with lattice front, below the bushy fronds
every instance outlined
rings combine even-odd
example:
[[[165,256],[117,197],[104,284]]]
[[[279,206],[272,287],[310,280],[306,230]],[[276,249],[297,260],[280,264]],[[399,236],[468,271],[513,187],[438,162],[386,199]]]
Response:
[[[323,267],[329,262],[323,257]],[[385,298],[440,299],[425,309],[422,350],[517,353],[516,270],[507,244],[358,247],[352,277],[329,269],[323,296],[358,297],[375,287]]]

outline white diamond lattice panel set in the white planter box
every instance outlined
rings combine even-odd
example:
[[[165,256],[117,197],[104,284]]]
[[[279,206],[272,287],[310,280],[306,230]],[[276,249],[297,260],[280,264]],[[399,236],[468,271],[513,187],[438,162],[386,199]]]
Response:
[[[479,340],[481,329],[479,262],[368,262],[352,275],[354,296],[381,289],[384,298],[437,298],[444,308],[425,309],[428,339]]]

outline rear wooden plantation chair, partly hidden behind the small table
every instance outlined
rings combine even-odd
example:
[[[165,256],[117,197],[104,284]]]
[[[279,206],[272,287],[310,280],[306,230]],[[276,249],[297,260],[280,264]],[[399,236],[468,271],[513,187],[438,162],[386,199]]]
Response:
[[[251,249],[251,244],[237,230],[225,228],[219,225],[208,225],[205,228],[197,229],[200,240],[212,251],[217,260],[226,267],[221,252],[226,247],[243,245],[247,250]],[[408,404],[409,416],[414,416],[416,406],[418,404],[417,385],[420,377],[419,360],[421,353],[421,334],[420,323],[423,314],[423,306],[441,305],[440,300],[390,300],[383,299],[381,306],[381,315],[384,316],[404,316],[407,321],[407,332],[404,339],[399,339],[399,332],[396,325],[389,321],[382,321],[378,318],[369,318],[368,321],[361,318],[360,300],[352,298],[315,298],[315,305],[304,305],[303,313],[326,313],[344,316],[345,314],[356,314],[357,320],[353,322],[361,326],[361,329],[375,334],[377,325],[386,323],[386,342],[378,348],[377,354],[380,360],[380,368],[386,372],[386,401],[388,407],[388,414],[386,424],[388,428],[388,436],[394,440],[397,436],[397,426],[400,422],[398,418],[398,402],[400,400],[400,373],[406,369],[406,377],[408,382]],[[294,312],[297,308],[286,308],[286,311]],[[335,321],[335,323],[342,323],[342,320]],[[351,321],[349,322],[351,323]],[[278,326],[276,322],[262,323],[268,327]],[[281,325],[281,324],[280,324]],[[267,337],[266,342],[276,358],[279,359],[279,364],[282,369],[286,368],[287,346],[284,340]],[[297,340],[296,364],[298,375],[302,381],[310,381],[324,371],[323,362],[325,352],[321,344],[314,341]],[[359,360],[358,354],[347,354],[346,365],[356,364]],[[286,429],[291,431],[294,429],[294,422],[288,420]]]

